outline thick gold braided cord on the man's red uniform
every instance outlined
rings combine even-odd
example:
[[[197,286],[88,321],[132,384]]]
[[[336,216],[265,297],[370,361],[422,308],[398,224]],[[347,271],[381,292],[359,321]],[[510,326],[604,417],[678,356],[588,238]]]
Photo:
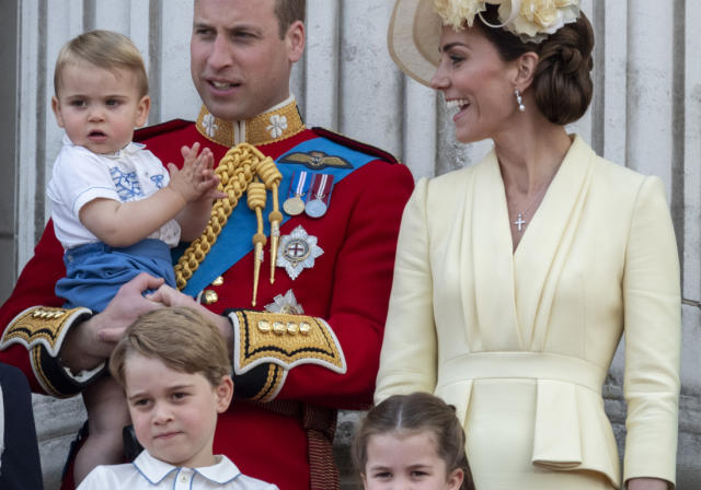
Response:
[[[277,185],[283,178],[273,159],[265,156],[257,148],[249,143],[240,143],[230,149],[217,165],[215,173],[219,176],[219,190],[225,192],[227,197],[215,202],[205,231],[199,238],[189,244],[177,260],[174,271],[175,284],[179,290],[183,290],[187,285],[187,281],[211,249],[221,229],[227,224],[231,212],[239,203],[239,199],[253,182],[253,177],[257,175],[265,187],[271,189],[274,186],[277,189]],[[265,206],[265,197],[263,206]]]

